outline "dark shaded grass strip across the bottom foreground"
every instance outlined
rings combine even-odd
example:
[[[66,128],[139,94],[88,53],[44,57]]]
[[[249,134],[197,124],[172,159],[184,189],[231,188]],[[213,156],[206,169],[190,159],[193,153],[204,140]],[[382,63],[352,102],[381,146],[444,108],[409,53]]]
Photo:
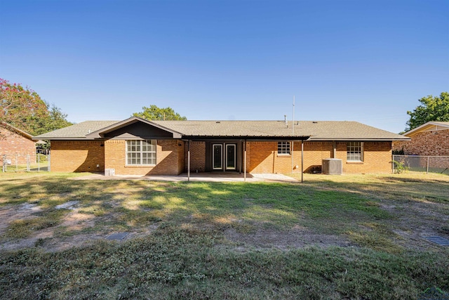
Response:
[[[5,299],[416,299],[449,289],[448,260],[332,247],[217,248],[213,233],[173,228],[145,239],[43,253],[0,253]]]

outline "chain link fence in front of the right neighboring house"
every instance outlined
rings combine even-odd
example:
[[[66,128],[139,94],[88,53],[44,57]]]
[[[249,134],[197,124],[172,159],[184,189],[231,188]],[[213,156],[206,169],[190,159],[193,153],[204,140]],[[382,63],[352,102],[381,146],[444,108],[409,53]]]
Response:
[[[449,175],[449,156],[393,155],[393,173],[417,171]]]

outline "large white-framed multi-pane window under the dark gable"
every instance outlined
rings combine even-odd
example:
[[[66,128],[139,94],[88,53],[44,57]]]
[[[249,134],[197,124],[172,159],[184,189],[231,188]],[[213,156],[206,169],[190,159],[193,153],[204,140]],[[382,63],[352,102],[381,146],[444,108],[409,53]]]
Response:
[[[126,164],[130,166],[156,165],[156,140],[126,141]]]

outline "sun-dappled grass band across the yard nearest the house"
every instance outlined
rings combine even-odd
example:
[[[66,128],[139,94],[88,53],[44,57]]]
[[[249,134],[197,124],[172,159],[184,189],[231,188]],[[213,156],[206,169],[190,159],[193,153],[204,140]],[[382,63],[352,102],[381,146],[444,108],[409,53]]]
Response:
[[[76,201],[79,213],[95,216],[89,219],[94,228],[83,228],[79,233],[145,231],[161,223],[179,228],[187,224],[215,230],[234,228],[239,233],[254,233],[263,227],[288,234],[292,228],[305,228],[392,253],[402,248],[395,245],[396,215],[382,208],[385,200],[445,204],[449,195],[445,181],[397,176],[359,176],[354,181],[344,176],[316,176],[305,183],[173,183],[72,181],[66,175],[14,178],[2,183],[0,205],[34,203],[44,209],[40,216],[50,216],[55,206]],[[440,210],[443,214],[448,211]],[[51,225],[58,226],[68,214],[71,211],[53,214]],[[424,220],[418,215],[410,219],[413,217]],[[76,234],[70,226],[65,231]]]

